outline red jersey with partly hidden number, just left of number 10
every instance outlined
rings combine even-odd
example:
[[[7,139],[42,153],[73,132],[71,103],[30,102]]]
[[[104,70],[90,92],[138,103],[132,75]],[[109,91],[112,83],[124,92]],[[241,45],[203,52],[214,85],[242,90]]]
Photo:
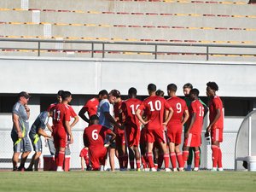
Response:
[[[125,124],[139,127],[140,121],[137,119],[135,112],[141,103],[142,101],[137,98],[131,98],[122,103],[121,109],[125,114]]]

